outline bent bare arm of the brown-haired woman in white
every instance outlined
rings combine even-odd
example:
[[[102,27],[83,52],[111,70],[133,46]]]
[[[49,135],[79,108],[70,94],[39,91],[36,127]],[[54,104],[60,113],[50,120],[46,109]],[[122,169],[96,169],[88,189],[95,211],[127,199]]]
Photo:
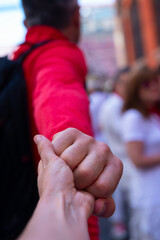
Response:
[[[133,141],[126,143],[128,155],[132,162],[137,167],[153,167],[160,164],[160,155],[150,155],[144,154],[144,144],[140,141]]]

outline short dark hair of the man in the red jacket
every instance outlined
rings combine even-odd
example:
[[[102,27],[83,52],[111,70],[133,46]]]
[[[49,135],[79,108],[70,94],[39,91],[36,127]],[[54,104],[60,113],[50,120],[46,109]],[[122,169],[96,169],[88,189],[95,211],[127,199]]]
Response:
[[[22,0],[22,4],[28,27],[48,25],[60,30],[69,25],[77,7],[76,0]]]

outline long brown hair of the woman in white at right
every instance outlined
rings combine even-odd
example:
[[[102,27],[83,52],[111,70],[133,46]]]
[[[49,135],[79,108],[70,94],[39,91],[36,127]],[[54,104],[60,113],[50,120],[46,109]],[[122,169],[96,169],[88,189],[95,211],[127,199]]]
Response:
[[[140,98],[140,88],[143,83],[150,82],[154,78],[157,78],[157,74],[150,69],[139,70],[130,76],[126,89],[123,112],[134,108],[140,111],[144,117],[149,116],[150,113]]]

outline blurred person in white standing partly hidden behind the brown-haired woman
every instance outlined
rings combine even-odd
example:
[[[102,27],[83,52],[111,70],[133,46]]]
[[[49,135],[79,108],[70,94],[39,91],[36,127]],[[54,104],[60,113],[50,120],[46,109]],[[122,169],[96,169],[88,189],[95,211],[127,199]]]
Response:
[[[99,125],[105,133],[108,146],[124,165],[123,175],[113,197],[116,211],[112,217],[112,235],[116,239],[125,239],[127,233],[128,185],[130,166],[122,134],[122,107],[126,94],[130,68],[119,69],[114,79],[113,92],[102,105],[99,114]]]

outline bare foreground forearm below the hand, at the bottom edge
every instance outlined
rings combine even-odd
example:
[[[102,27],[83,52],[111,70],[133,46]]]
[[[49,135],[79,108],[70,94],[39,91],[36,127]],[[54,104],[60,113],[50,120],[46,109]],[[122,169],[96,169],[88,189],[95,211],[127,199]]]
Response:
[[[89,240],[87,219],[63,196],[54,201],[42,198],[18,240],[28,239]]]

